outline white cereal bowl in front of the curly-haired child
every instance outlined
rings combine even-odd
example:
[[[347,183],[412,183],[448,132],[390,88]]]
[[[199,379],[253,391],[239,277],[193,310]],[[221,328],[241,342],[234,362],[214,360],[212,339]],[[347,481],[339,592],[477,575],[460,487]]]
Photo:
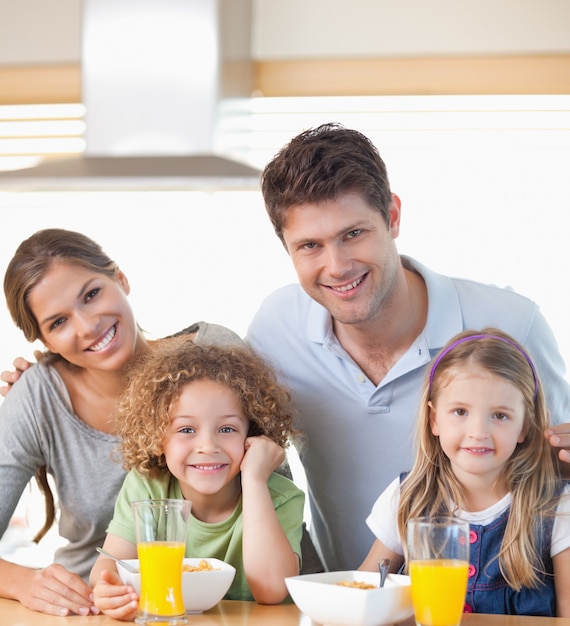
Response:
[[[219,559],[203,559],[212,566],[211,570],[182,572],[182,593],[186,613],[202,613],[211,609],[226,595],[236,574],[235,567]],[[186,558],[184,565],[197,567],[199,558]],[[138,559],[125,559],[126,563],[139,567]],[[131,585],[140,594],[141,576],[127,571],[117,563],[119,576],[126,585]]]

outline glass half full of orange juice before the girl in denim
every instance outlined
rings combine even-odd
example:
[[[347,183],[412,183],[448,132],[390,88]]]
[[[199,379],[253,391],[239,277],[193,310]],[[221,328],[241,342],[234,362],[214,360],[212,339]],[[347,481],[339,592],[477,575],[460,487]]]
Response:
[[[408,522],[408,568],[418,626],[458,626],[465,606],[469,523],[455,517]]]

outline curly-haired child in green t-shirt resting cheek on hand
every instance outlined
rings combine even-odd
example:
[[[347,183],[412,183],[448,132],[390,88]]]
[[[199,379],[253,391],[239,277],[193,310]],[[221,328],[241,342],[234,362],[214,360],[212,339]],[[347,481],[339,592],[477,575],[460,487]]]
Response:
[[[236,568],[227,599],[275,604],[285,577],[299,573],[304,494],[274,470],[293,430],[288,392],[249,348],[158,346],[136,368],[116,423],[124,466],[104,548],[136,558],[130,503],[185,498],[192,503],[186,556]],[[115,564],[100,556],[91,572],[95,604],[131,620],[137,597]]]

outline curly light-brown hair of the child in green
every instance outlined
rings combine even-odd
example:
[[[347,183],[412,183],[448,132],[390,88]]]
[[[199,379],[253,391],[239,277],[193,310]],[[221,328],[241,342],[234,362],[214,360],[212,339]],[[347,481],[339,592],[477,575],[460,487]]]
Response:
[[[115,412],[125,469],[152,476],[166,469],[162,443],[170,409],[188,383],[203,379],[239,398],[250,420],[248,436],[266,435],[286,448],[297,434],[289,391],[253,350],[197,345],[189,337],[163,339],[131,370]]]

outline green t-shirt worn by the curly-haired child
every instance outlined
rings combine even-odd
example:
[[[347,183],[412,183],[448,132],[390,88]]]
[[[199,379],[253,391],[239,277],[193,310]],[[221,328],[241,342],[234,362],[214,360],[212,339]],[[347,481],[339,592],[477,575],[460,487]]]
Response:
[[[273,473],[267,482],[281,528],[293,551],[301,560],[303,507],[305,494],[288,478]],[[107,532],[136,543],[131,502],[160,498],[183,499],[180,484],[170,473],[160,478],[147,478],[131,470],[115,503],[115,513]],[[206,524],[190,517],[186,538],[186,556],[216,558],[236,568],[226,600],[253,600],[247,584],[242,557],[243,519],[241,499],[230,517],[223,522]]]

